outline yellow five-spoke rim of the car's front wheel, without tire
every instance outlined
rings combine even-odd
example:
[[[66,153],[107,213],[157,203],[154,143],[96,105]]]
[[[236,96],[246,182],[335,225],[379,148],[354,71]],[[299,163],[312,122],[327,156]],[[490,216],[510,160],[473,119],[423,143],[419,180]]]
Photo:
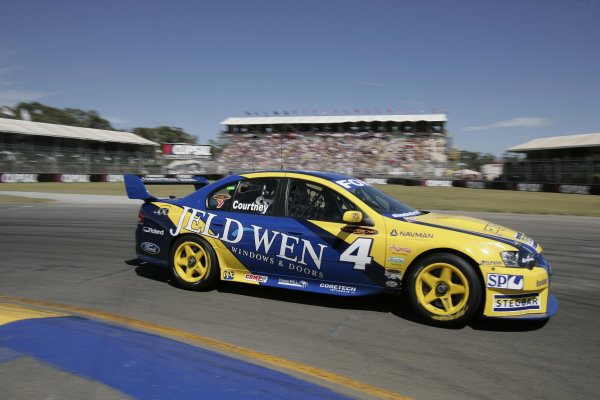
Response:
[[[469,281],[456,266],[444,262],[429,264],[416,278],[417,300],[430,313],[450,316],[467,304]]]

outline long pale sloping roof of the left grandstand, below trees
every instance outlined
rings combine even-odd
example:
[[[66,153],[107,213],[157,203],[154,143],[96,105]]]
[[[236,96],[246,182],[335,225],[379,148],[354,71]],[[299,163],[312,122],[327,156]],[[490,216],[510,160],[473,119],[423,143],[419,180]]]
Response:
[[[159,146],[158,143],[144,139],[143,137],[131,132],[46,124],[43,122],[21,121],[18,119],[7,118],[0,118],[0,133],[2,132],[32,136],[50,136],[66,139],[91,140],[96,142]]]

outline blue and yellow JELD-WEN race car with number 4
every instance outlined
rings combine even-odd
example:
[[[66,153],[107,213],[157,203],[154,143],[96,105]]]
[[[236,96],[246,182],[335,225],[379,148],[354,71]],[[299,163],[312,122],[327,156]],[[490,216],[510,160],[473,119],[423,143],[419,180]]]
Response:
[[[153,183],[196,190],[158,199],[146,188]],[[419,211],[360,179],[263,171],[209,184],[126,175],[125,186],[144,201],[138,258],[169,268],[185,289],[235,281],[340,296],[403,292],[439,326],[476,314],[548,319],[558,308],[542,247],[525,234]]]

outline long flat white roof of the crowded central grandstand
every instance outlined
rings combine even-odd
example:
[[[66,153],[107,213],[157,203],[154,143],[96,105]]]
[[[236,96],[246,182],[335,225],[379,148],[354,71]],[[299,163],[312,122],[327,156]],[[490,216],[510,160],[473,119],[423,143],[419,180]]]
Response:
[[[444,122],[446,114],[408,114],[408,115],[319,115],[319,116],[273,116],[273,117],[233,117],[227,118],[222,125],[274,125],[274,124],[340,124],[344,122]]]

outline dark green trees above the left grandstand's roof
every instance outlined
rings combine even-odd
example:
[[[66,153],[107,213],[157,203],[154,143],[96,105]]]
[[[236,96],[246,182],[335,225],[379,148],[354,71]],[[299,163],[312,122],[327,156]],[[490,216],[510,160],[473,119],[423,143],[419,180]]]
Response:
[[[78,108],[66,108],[62,110],[32,102],[17,104],[13,109],[13,113],[16,118],[30,119],[34,122],[115,130],[108,120],[100,117],[98,112],[93,110],[85,111]]]

